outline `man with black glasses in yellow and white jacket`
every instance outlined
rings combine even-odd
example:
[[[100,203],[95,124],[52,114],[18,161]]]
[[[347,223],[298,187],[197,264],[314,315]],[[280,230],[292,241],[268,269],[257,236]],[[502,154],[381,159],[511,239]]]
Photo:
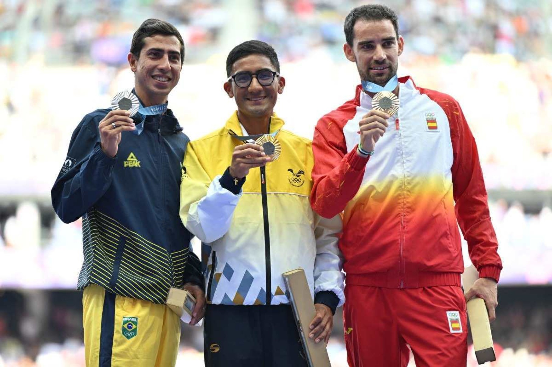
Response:
[[[305,366],[282,273],[305,270],[316,308],[310,337],[327,343],[344,302],[341,218],[310,207],[311,142],[274,114],[285,87],[274,49],[243,42],[226,72],[237,111],[188,144],[181,185],[182,221],[203,242],[205,364]]]

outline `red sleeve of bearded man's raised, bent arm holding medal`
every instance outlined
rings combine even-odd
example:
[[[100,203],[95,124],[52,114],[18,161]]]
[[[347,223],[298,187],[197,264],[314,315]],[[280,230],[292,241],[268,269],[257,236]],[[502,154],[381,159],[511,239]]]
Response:
[[[368,159],[357,154],[356,146],[347,153],[342,127],[329,116],[316,124],[312,152],[311,206],[322,217],[332,218],[343,212],[357,193]]]

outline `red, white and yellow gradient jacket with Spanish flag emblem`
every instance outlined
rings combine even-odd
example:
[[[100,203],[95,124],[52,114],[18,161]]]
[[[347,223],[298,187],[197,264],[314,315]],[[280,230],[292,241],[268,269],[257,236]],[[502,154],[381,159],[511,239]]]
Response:
[[[487,206],[477,147],[457,101],[399,79],[392,116],[369,159],[357,155],[358,122],[371,98],[323,116],[312,149],[311,205],[323,217],[343,211],[339,249],[347,284],[387,288],[460,285],[458,224],[480,277],[498,281],[502,263]]]

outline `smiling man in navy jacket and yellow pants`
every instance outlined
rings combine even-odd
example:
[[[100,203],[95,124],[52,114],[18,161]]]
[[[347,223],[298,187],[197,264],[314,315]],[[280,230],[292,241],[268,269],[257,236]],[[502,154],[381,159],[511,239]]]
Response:
[[[88,366],[174,365],[180,320],[164,304],[170,287],[197,299],[190,323],[204,314],[200,262],[179,217],[189,139],[166,109],[184,60],[182,36],[148,19],[132,38],[128,60],[139,113],[101,109],[84,116],[51,192],[63,222],[82,217],[78,289]]]

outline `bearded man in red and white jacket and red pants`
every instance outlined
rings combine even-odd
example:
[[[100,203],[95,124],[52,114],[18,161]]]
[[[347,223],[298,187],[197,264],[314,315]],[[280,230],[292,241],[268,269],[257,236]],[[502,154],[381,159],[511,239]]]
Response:
[[[391,9],[355,8],[344,29],[363,82],[316,125],[311,205],[343,212],[349,365],[406,366],[408,344],[417,366],[465,366],[465,300],[484,298],[494,320],[502,269],[474,137],[452,97],[396,78]],[[398,112],[375,110],[376,91]],[[465,297],[457,221],[480,277]]]

